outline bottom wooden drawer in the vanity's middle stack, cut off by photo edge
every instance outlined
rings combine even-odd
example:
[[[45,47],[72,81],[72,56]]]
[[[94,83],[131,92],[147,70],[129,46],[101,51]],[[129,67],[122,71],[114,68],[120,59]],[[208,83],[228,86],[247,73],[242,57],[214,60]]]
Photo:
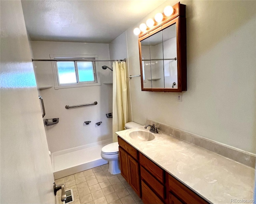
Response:
[[[144,204],[164,204],[143,181],[141,182],[141,190]]]

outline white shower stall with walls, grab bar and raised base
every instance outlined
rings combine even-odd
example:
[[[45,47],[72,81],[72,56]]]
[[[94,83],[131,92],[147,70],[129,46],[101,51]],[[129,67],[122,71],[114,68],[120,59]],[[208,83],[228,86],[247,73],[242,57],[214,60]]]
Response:
[[[112,142],[113,72],[108,46],[104,43],[31,41],[31,47],[38,93],[44,99],[46,110],[43,119],[52,122],[58,118],[58,123],[45,126],[54,179],[107,163],[100,153],[104,145]],[[56,87],[56,56],[58,61],[75,63],[90,58],[96,66],[98,84]]]

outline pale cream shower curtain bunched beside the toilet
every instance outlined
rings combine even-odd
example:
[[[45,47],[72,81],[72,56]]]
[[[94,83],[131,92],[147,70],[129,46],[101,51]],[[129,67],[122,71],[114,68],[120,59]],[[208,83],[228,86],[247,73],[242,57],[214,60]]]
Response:
[[[113,142],[117,141],[116,131],[124,129],[128,122],[128,101],[125,62],[113,63]]]

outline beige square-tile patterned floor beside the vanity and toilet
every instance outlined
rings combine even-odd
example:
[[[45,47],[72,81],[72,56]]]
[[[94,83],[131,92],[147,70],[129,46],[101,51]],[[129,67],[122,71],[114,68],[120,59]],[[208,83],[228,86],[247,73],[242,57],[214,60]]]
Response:
[[[143,204],[139,196],[120,175],[108,172],[108,164],[88,169],[55,180],[65,183],[65,189],[73,189],[75,201],[72,204]],[[62,204],[61,190],[57,192],[57,203]]]

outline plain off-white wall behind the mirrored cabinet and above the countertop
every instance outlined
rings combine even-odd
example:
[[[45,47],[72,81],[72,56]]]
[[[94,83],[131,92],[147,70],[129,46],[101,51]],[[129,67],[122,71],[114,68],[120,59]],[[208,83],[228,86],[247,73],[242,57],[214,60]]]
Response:
[[[138,36],[133,29],[167,5],[166,1],[126,31],[129,73],[140,73]],[[185,1],[187,91],[142,92],[130,82],[132,119],[146,118],[256,153],[256,2]]]

